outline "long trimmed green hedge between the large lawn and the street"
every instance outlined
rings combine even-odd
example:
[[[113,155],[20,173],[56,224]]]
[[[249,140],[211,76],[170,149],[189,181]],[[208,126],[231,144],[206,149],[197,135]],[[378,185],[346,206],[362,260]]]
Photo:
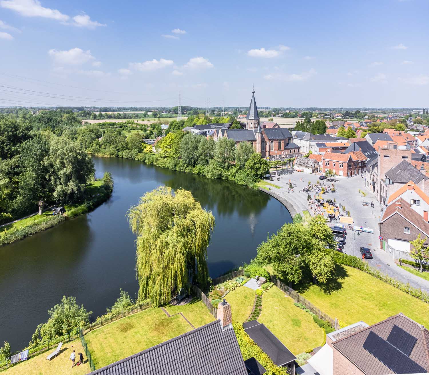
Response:
[[[386,282],[394,286],[395,288],[410,294],[413,297],[422,300],[425,303],[429,303],[429,294],[420,289],[416,289],[410,286],[409,283],[404,284],[393,277],[390,277],[387,274],[381,273],[379,270],[370,267],[367,263],[363,262],[360,258],[356,258],[353,255],[343,254],[341,252],[334,251],[334,260],[338,264],[343,264],[344,266],[349,266],[353,268],[357,268],[363,272],[368,273],[371,276],[374,276],[376,279]]]

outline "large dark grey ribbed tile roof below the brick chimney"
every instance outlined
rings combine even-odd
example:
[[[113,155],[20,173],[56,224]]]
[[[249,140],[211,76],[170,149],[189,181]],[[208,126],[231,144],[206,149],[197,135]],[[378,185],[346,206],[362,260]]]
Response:
[[[91,375],[248,375],[231,325],[217,320]]]

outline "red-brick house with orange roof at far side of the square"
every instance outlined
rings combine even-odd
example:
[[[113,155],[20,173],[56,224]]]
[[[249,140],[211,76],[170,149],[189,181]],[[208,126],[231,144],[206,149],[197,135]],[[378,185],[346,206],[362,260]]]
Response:
[[[331,169],[337,176],[352,177],[365,171],[366,156],[362,151],[347,154],[326,152],[322,156],[322,172]]]

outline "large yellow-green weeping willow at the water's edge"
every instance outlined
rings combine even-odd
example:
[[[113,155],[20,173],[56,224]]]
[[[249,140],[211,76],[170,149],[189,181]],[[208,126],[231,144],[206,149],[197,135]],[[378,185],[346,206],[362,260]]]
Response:
[[[160,186],[140,198],[127,213],[136,234],[139,299],[153,306],[168,303],[173,291],[208,279],[207,246],[215,218],[191,192]]]

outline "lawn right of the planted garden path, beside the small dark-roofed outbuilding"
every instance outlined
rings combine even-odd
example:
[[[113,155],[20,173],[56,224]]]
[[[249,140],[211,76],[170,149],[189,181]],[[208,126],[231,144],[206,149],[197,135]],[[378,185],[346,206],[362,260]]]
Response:
[[[258,321],[297,355],[322,345],[324,334],[311,315],[294,306],[293,302],[273,286],[262,295],[262,312]]]

